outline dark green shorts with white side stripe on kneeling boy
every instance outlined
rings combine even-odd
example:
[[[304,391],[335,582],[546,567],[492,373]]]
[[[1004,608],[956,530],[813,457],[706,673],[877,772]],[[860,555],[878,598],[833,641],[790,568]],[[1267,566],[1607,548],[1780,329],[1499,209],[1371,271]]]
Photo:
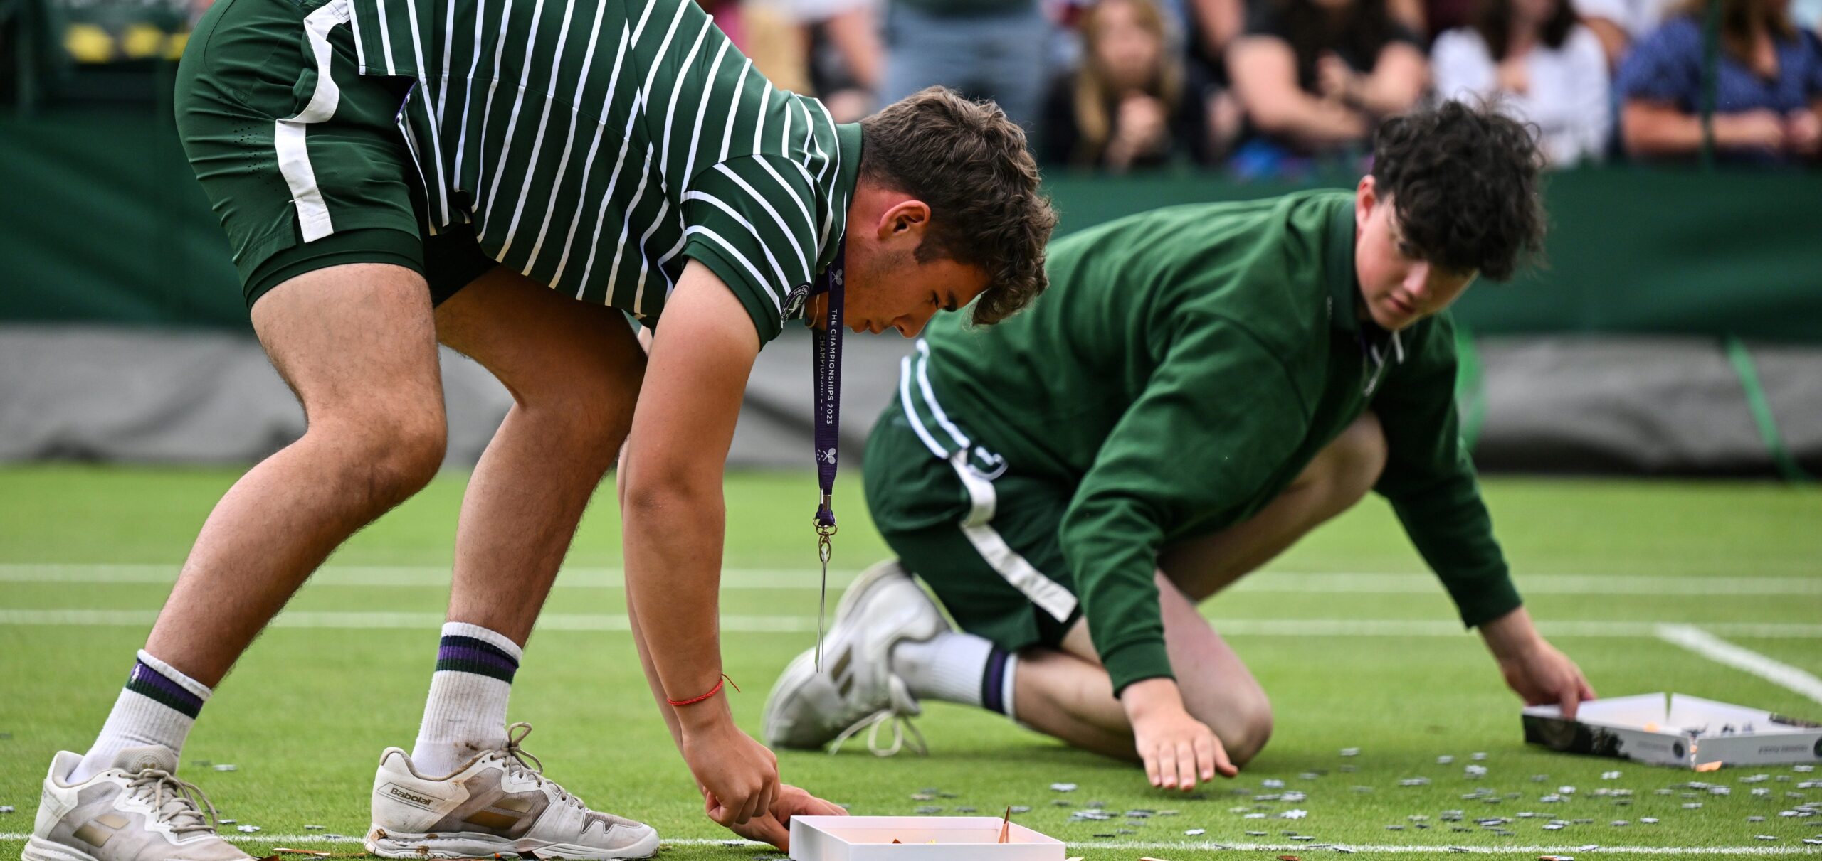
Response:
[[[862,464],[867,508],[957,624],[1017,652],[1062,644],[1082,617],[1059,528],[1073,488],[971,455],[944,459],[891,406]]]

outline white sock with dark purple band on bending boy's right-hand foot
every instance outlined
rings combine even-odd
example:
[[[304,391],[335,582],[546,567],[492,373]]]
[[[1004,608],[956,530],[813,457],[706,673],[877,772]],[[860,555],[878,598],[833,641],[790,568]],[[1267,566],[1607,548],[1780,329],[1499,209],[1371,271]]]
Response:
[[[425,723],[412,746],[417,774],[443,777],[481,752],[507,746],[507,699],[523,655],[505,633],[468,623],[443,624]]]

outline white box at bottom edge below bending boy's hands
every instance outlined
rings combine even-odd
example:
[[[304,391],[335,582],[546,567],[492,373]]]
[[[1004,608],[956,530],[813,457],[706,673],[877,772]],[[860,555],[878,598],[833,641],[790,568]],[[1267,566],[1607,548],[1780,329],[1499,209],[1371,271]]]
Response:
[[[997,815],[793,815],[794,861],[1062,861],[1064,846]],[[902,843],[893,843],[895,839]],[[937,843],[931,843],[937,841]]]

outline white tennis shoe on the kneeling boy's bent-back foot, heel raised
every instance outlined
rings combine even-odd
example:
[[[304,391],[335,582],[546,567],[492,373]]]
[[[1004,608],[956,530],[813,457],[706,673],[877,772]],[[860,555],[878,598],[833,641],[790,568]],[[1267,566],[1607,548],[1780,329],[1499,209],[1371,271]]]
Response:
[[[867,730],[867,748],[875,755],[898,754],[907,743],[926,754],[924,735],[911,717],[924,714],[911,688],[893,674],[893,646],[926,641],[949,630],[937,603],[918,588],[896,561],[867,568],[842,595],[834,626],[822,648],[798,655],[778,677],[765,701],[763,734],[774,746],[831,754],[849,737]],[[893,728],[891,745],[882,745],[882,726]],[[911,737],[906,737],[906,730]]]

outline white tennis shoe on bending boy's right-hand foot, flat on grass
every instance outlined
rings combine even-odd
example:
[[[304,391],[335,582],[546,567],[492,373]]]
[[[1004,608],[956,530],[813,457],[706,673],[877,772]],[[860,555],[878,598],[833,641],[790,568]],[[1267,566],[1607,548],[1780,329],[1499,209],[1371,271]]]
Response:
[[[374,775],[374,828],[366,850],[381,857],[618,859],[658,854],[658,832],[643,823],[589,810],[543,763],[519,748],[527,723],[507,728],[507,746],[446,777],[412,768],[404,750],[386,748]]]

